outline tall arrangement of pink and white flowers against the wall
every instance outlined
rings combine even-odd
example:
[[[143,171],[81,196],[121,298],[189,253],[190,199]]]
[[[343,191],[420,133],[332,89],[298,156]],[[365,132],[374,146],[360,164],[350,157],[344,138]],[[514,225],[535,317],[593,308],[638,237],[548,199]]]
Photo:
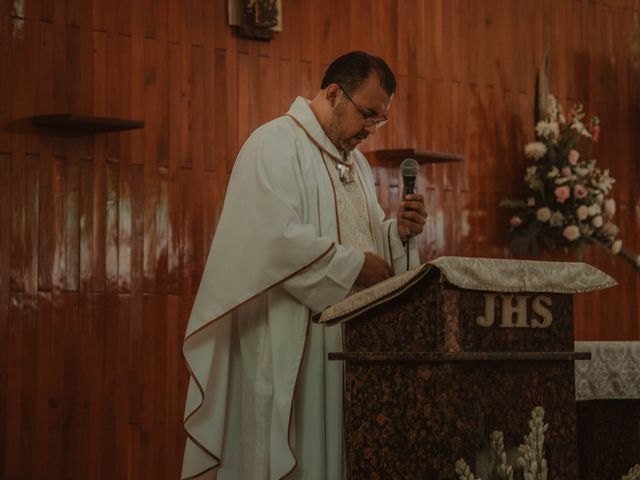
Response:
[[[581,104],[565,114],[553,95],[546,96],[545,107],[535,127],[536,140],[524,148],[531,162],[524,178],[526,197],[501,202],[515,210],[509,248],[516,254],[537,254],[540,245],[547,251],[565,247],[582,257],[587,246],[597,244],[640,272],[640,256],[622,246],[613,223],[616,202],[609,195],[615,179],[589,154],[600,135],[598,117],[587,120]]]

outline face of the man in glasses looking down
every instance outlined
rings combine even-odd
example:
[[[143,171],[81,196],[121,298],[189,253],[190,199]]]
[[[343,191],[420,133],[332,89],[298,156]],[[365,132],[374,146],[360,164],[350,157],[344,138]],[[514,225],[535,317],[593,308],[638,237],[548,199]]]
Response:
[[[376,132],[376,121],[387,115],[393,95],[387,94],[375,74],[369,75],[351,95],[341,87],[336,88],[338,100],[333,106],[327,136],[340,150],[350,152]]]

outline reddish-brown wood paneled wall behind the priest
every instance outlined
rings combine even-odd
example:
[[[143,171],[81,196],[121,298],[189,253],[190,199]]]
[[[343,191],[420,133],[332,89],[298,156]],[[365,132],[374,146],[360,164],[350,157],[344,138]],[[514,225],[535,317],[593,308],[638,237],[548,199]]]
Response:
[[[423,259],[507,257],[535,69],[603,122],[599,163],[640,248],[640,2],[283,0],[284,32],[237,39],[224,0],[0,0],[0,477],[175,479],[180,347],[242,141],[352,49],[386,58],[393,121],[365,150],[462,153],[424,167]],[[64,136],[36,114],[142,119]],[[375,169],[383,206],[398,172]],[[563,254],[556,259],[566,259]],[[640,336],[637,274],[577,297],[578,339]]]

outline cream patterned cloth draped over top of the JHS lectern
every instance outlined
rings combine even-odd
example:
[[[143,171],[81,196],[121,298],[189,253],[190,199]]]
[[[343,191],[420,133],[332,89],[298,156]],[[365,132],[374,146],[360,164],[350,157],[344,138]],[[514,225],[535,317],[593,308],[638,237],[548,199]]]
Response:
[[[362,290],[325,309],[318,322],[344,322],[400,295],[433,268],[453,285],[489,292],[582,293],[617,285],[604,272],[586,263],[439,257]]]

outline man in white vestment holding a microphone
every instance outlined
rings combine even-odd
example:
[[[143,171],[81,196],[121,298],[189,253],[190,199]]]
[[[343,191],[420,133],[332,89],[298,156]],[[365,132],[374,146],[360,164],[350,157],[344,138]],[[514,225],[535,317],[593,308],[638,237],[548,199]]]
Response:
[[[341,326],[311,316],[419,264],[426,210],[385,220],[360,144],[396,82],[351,52],[311,100],[258,128],[236,159],[189,319],[182,478],[343,478]]]

